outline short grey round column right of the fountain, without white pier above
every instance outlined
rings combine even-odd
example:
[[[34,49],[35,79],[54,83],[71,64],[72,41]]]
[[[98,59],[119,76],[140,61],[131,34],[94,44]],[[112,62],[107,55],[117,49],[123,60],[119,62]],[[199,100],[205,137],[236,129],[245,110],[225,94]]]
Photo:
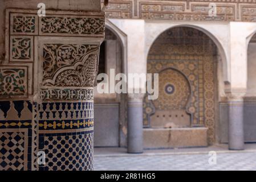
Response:
[[[243,96],[244,93],[228,94],[229,150],[244,149]]]

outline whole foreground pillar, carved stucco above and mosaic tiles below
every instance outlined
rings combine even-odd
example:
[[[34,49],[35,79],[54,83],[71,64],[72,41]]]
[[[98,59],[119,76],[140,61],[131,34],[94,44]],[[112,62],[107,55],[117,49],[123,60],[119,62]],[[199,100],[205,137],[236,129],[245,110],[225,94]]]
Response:
[[[92,170],[103,12],[6,10],[0,170]],[[38,152],[46,164],[38,164]]]

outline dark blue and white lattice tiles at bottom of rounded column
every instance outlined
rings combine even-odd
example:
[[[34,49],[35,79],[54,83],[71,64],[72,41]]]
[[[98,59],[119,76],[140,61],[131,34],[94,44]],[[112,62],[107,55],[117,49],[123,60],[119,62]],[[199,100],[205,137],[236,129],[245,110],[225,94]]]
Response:
[[[93,169],[93,131],[40,134],[39,150],[46,153],[44,171]]]

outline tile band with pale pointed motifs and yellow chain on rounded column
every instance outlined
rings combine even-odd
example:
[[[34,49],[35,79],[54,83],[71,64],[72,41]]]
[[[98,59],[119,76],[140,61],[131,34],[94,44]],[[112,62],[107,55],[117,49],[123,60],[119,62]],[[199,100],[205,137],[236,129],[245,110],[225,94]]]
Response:
[[[93,102],[43,102],[39,130],[84,129],[94,126]]]

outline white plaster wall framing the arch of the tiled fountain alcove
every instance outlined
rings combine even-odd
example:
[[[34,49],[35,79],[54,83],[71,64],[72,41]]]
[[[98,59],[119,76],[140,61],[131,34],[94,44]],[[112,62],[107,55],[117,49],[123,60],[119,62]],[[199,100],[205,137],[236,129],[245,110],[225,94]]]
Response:
[[[169,22],[164,20],[110,19],[127,34],[128,73],[146,73],[147,55],[157,37],[175,26],[197,28],[208,35],[218,47],[222,64],[218,77],[220,93],[225,94],[224,81],[231,90],[245,90],[247,85],[247,42],[256,31],[250,22]],[[220,73],[220,71],[219,71]]]

